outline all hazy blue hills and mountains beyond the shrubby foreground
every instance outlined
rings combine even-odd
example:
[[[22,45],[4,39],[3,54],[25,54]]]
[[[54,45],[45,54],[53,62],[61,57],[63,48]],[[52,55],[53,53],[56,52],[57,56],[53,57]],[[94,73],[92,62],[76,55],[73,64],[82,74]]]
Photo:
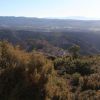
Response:
[[[100,20],[0,17],[0,40],[60,56],[77,44],[81,54],[100,53]]]

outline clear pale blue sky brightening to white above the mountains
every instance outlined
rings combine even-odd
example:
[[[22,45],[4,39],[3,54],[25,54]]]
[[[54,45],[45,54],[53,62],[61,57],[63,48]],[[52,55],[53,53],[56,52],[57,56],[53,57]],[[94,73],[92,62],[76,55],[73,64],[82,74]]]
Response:
[[[0,0],[0,16],[100,18],[100,0]]]

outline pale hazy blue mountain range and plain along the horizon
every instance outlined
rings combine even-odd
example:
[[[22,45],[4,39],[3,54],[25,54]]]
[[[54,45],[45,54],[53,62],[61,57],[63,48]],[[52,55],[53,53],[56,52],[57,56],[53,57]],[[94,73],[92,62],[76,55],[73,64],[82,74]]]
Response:
[[[0,17],[0,28],[36,31],[100,31],[100,20]]]

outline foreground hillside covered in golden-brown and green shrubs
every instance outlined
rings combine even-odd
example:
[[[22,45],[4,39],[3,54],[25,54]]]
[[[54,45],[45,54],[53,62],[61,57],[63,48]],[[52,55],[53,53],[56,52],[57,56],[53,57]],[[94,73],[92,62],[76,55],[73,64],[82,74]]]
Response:
[[[100,56],[73,54],[52,59],[0,42],[0,100],[99,100]]]

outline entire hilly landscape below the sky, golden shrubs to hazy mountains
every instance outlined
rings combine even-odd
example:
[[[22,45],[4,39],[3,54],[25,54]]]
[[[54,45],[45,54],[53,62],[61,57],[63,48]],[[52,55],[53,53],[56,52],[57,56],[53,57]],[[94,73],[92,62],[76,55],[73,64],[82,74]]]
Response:
[[[100,99],[99,21],[0,19],[0,100]]]

